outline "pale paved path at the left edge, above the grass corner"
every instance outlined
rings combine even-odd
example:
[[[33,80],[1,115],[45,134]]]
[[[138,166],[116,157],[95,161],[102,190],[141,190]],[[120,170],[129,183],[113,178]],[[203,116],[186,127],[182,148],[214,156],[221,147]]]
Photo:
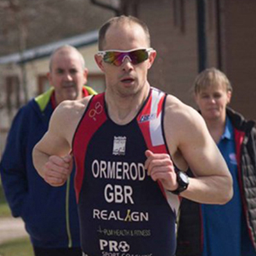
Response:
[[[28,237],[20,218],[0,218],[0,244],[20,237]]]

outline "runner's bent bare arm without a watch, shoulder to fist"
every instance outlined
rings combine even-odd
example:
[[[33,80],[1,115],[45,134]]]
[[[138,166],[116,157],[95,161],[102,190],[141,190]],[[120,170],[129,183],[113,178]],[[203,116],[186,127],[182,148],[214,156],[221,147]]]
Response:
[[[45,133],[33,150],[33,163],[42,178],[52,186],[63,185],[72,171],[72,135],[80,112],[74,102],[63,102],[54,111]]]

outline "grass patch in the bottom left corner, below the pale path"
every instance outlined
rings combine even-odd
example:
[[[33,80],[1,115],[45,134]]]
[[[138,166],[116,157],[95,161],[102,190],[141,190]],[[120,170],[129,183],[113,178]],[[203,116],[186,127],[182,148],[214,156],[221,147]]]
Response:
[[[19,238],[0,244],[1,256],[33,256],[29,238]]]

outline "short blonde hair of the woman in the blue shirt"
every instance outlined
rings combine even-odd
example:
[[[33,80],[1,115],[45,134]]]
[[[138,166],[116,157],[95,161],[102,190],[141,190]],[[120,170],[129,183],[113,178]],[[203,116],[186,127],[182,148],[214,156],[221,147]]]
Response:
[[[193,92],[196,95],[205,88],[219,85],[225,86],[227,92],[232,92],[233,90],[230,81],[223,72],[217,68],[207,68],[196,77]]]

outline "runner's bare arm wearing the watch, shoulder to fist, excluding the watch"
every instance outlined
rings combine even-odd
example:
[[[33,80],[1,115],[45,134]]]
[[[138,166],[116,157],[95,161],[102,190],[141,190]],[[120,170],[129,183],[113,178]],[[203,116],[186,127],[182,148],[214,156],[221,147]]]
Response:
[[[232,178],[203,118],[177,99],[173,102],[169,98],[167,104],[164,130],[172,160],[166,154],[152,156],[147,152],[152,179],[160,179],[164,188],[175,190],[174,161],[182,170],[189,166],[196,176],[189,179],[181,196],[202,204],[227,203],[232,198]]]

